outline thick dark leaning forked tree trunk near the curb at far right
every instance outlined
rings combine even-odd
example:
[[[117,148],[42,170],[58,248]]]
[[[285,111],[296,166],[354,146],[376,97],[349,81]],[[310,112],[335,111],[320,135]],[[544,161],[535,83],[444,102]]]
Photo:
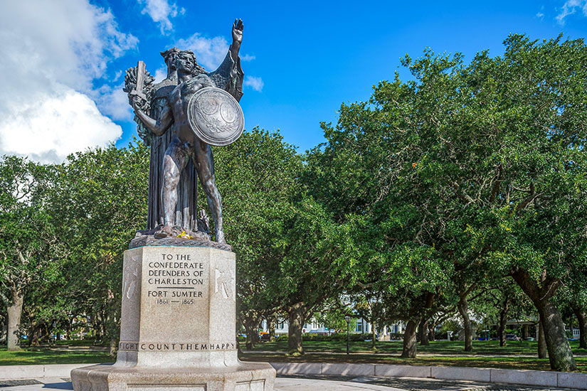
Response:
[[[550,368],[564,372],[576,370],[577,365],[566,337],[561,313],[549,301],[556,294],[560,280],[549,279],[544,272],[544,277],[538,282],[523,269],[514,272],[512,277],[538,310],[542,326],[544,326],[544,340],[546,341],[546,350],[549,352]]]

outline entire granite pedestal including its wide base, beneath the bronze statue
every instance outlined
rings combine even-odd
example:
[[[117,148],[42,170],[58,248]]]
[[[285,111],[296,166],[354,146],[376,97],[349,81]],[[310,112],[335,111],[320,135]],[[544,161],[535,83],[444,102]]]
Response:
[[[115,365],[71,371],[75,391],[271,391],[268,363],[237,357],[235,255],[189,245],[125,252]]]

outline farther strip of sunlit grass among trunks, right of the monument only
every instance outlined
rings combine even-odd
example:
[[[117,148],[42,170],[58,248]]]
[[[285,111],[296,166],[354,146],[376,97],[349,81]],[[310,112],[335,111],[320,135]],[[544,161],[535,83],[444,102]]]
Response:
[[[569,341],[575,355],[587,354],[586,349],[578,348],[578,341]],[[400,355],[401,341],[381,341],[376,343],[376,353],[388,353]],[[463,341],[433,341],[428,346],[418,344],[418,353],[425,355],[536,355],[538,342],[533,341],[507,341],[507,346],[499,347],[499,341],[473,341],[472,352],[465,352]],[[304,349],[307,352],[346,353],[346,341],[304,341]],[[254,350],[285,351],[287,341],[258,343]],[[351,353],[374,353],[371,350],[371,342],[351,342]]]

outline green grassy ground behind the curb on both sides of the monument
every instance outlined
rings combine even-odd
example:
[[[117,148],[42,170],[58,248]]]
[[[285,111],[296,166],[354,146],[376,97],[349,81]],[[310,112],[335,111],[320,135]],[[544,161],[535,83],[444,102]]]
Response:
[[[587,350],[570,341],[579,372],[587,373]],[[352,342],[349,355],[344,341],[305,341],[305,355],[285,354],[287,341],[258,343],[253,350],[243,350],[240,359],[268,362],[381,363],[397,365],[448,365],[477,368],[549,370],[549,360],[536,358],[537,343],[509,341],[500,348],[496,341],[474,341],[473,351],[464,352],[462,341],[433,341],[418,346],[417,358],[400,358],[401,341],[381,341],[371,350],[371,342]],[[87,341],[59,343],[57,346],[23,348],[9,352],[0,349],[0,365],[47,365],[65,363],[109,363],[113,359],[105,346],[90,346]]]

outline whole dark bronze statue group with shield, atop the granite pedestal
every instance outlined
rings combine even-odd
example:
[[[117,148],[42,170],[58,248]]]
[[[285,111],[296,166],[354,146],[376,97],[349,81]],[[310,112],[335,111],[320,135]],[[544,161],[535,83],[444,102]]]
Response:
[[[238,105],[243,95],[243,71],[238,56],[243,40],[242,21],[234,22],[232,36],[233,43],[226,58],[211,73],[196,63],[191,50],[176,48],[162,53],[168,75],[156,86],[152,85],[153,77],[144,70],[142,61],[139,61],[137,68],[127,70],[125,91],[129,92],[135,120],[139,122],[139,134],[151,142],[152,148],[149,172],[150,226],[147,226],[147,234],[152,233],[154,237],[174,237],[184,232],[184,236],[210,240],[206,232],[207,222],[198,222],[195,216],[196,179],[191,178],[188,172],[191,158],[206,193],[208,208],[214,220],[216,242],[226,243],[222,201],[214,179],[210,144],[230,144],[243,132],[243,112]],[[171,137],[166,135],[168,130]],[[167,141],[164,141],[165,137]],[[157,159],[157,150],[154,148],[160,151],[162,147],[165,148],[162,159]],[[182,183],[178,189],[186,166],[188,168],[184,176],[187,174],[189,179],[187,182],[182,181],[186,183]],[[159,194],[152,194],[159,188]],[[181,208],[178,199],[180,205],[184,205]],[[185,206],[188,204],[189,208]],[[153,218],[152,213],[155,214]],[[201,217],[206,220],[205,215]]]

